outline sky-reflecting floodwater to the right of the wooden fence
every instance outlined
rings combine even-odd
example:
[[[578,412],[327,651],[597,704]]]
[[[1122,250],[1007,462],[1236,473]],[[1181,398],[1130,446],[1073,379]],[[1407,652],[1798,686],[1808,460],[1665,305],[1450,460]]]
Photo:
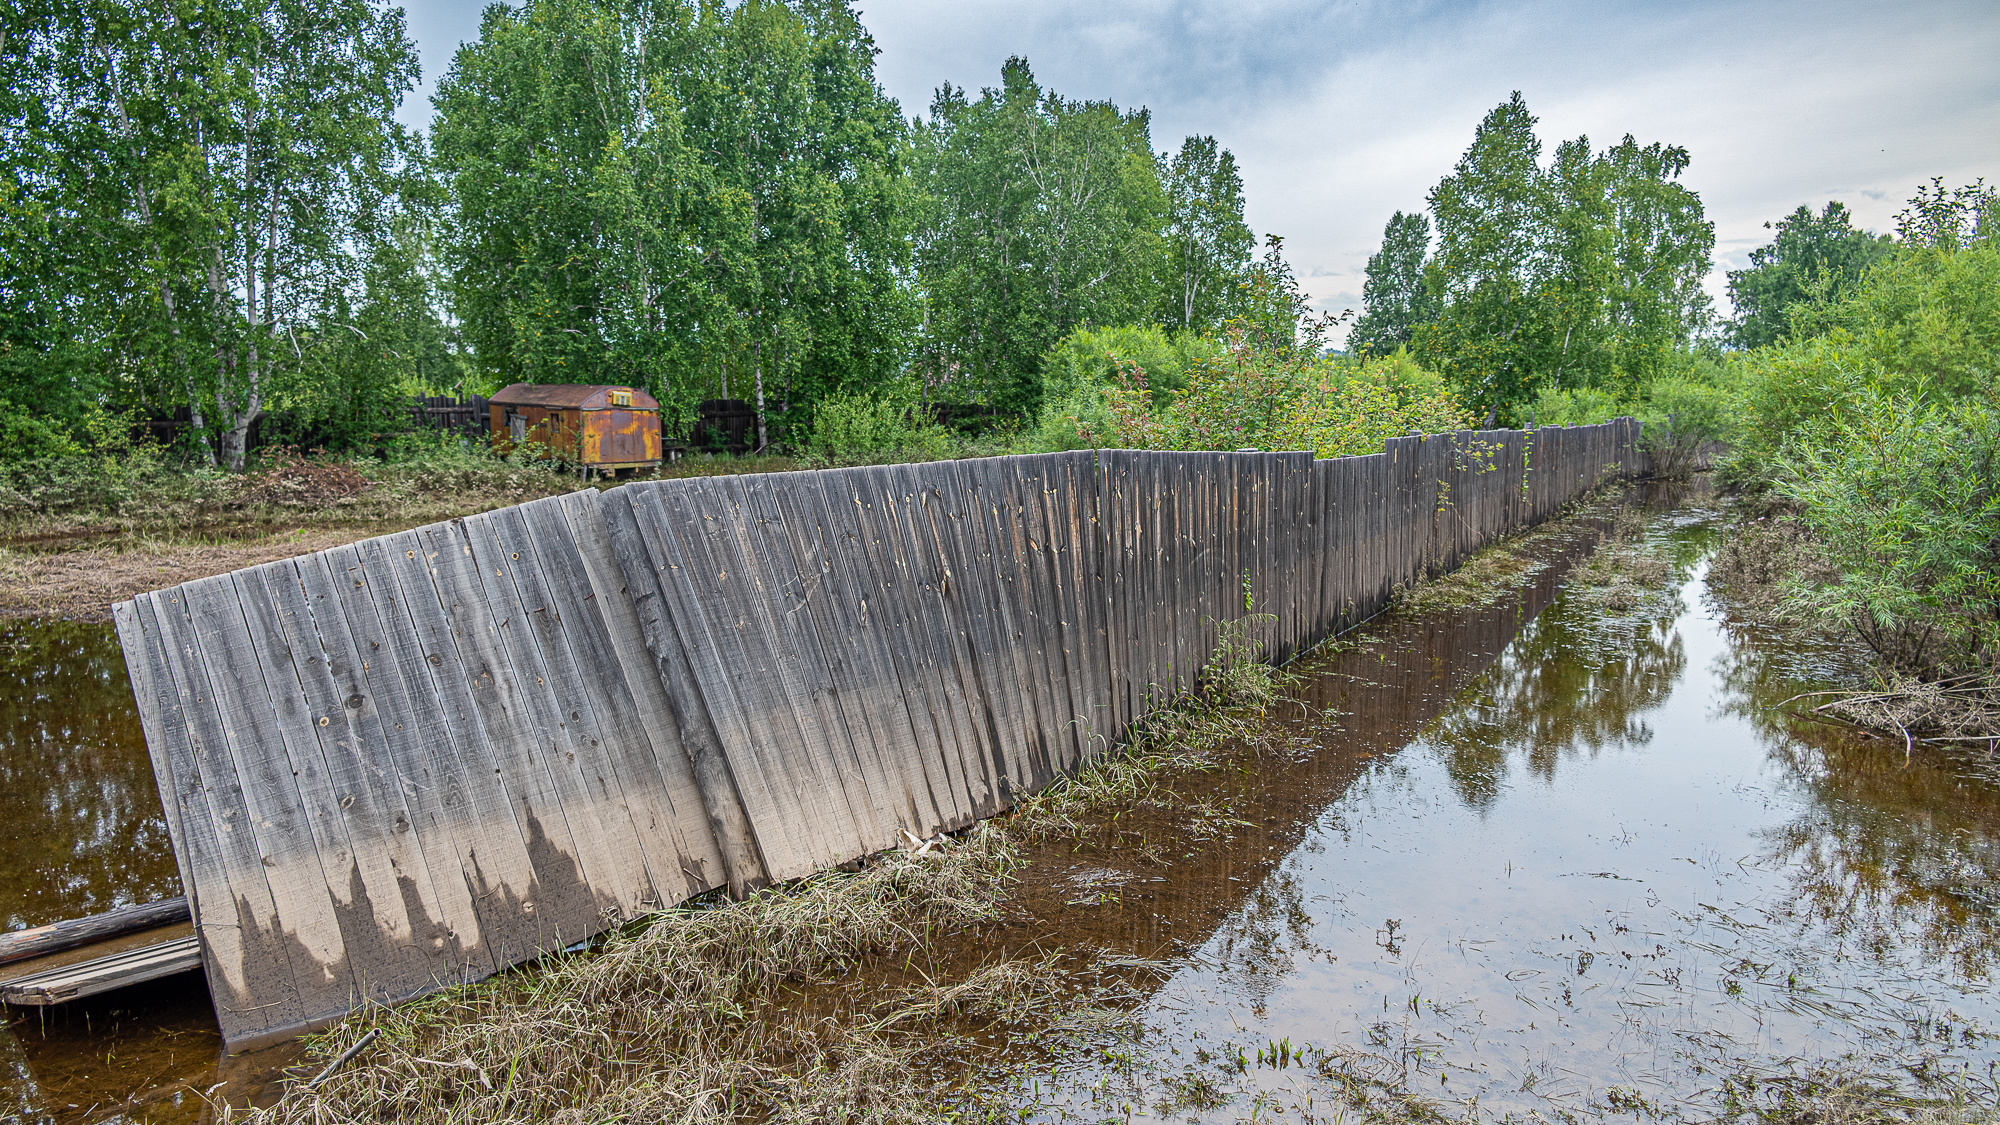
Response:
[[[1634,613],[1544,581],[1322,661],[1298,691],[1318,715],[1226,781],[1254,829],[1166,883],[1070,861],[1070,885],[1142,909],[1058,905],[1046,863],[1048,921],[1170,969],[1136,1047],[1024,1101],[1090,1121],[1316,1115],[1342,1091],[1710,1117],[1830,1069],[1990,1095],[2000,797],[1906,765],[1900,739],[1776,711],[1840,655],[1732,629],[1702,583],[1712,534],[1698,510],[1658,518],[1676,573]]]

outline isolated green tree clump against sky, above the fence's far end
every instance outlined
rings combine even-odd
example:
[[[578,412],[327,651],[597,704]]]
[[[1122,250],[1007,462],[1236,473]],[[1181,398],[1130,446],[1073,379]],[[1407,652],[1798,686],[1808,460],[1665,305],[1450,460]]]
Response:
[[[1590,138],[1542,164],[1516,92],[1430,192],[1434,320],[1410,350],[1458,394],[1514,418],[1546,386],[1630,386],[1706,324],[1714,224],[1680,174],[1688,150]]]

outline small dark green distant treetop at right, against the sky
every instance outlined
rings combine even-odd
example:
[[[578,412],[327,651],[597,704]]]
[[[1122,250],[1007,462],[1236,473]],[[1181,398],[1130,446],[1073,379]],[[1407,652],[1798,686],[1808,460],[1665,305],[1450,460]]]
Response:
[[[1730,270],[1730,302],[1736,306],[1730,334],[1746,348],[1786,340],[1794,304],[1846,296],[1868,266],[1894,248],[1894,238],[1886,234],[1856,230],[1854,216],[1838,200],[1818,216],[1800,206],[1778,220],[1770,246],[1750,250],[1750,268]]]

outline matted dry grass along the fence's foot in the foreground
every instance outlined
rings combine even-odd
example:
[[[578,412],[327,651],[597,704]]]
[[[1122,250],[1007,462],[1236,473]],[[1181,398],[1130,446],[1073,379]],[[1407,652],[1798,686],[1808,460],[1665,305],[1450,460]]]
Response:
[[[996,917],[1016,865],[980,827],[924,855],[886,853],[714,909],[654,915],[590,955],[552,957],[324,1035],[338,1055],[380,1039],[318,1089],[292,1085],[258,1123],[406,1121],[942,1121],[978,1095],[922,1077],[954,1049],[948,1017],[1046,1011],[1050,963],[1002,963],[888,1011],[830,1011],[796,993],[862,959]],[[1074,991],[1060,995],[1076,1003]],[[310,1071],[308,1071],[310,1073]]]

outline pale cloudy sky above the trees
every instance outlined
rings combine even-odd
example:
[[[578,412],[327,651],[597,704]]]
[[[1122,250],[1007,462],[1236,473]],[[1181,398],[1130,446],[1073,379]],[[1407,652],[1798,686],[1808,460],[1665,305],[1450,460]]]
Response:
[[[406,120],[480,0],[404,0],[424,56]],[[1798,204],[1890,230],[1914,188],[2000,182],[2000,4],[1912,0],[1620,4],[1530,0],[858,0],[906,114],[940,82],[978,90],[1022,54],[1072,98],[1150,106],[1154,148],[1214,134],[1248,218],[1324,308],[1360,304],[1390,212],[1424,192],[1510,90],[1544,150],[1588,134],[1686,146],[1716,224],[1716,276]],[[1726,310],[1726,302],[1722,302]]]

